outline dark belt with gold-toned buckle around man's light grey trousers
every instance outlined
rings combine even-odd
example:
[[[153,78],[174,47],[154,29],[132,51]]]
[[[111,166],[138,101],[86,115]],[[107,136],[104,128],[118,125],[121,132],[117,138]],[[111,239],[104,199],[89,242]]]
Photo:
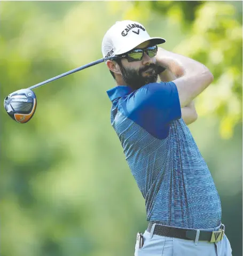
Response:
[[[147,231],[150,232],[153,222],[149,222]],[[175,227],[163,226],[155,223],[153,234],[159,236],[168,236],[174,238],[181,238],[186,240],[208,241],[210,243],[219,242],[223,239],[225,227],[222,224],[218,231],[202,231],[197,229],[182,229]],[[199,233],[199,234],[198,234]]]

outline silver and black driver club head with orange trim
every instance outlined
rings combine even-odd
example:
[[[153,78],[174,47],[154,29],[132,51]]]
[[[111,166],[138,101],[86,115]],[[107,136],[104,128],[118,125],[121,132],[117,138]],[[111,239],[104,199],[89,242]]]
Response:
[[[33,117],[36,103],[36,96],[32,90],[21,89],[4,99],[4,108],[14,121],[26,123]]]

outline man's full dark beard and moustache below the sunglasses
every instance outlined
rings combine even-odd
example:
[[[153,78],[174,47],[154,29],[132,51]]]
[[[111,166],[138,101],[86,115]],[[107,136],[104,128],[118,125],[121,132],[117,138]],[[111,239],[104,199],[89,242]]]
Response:
[[[154,83],[158,80],[158,66],[155,64],[150,64],[150,66],[146,66],[137,70],[131,68],[125,68],[122,64],[119,65],[121,68],[122,78],[127,86],[131,87],[134,90],[139,89],[145,84]],[[151,71],[146,72],[144,76],[144,71],[148,69],[153,69]]]

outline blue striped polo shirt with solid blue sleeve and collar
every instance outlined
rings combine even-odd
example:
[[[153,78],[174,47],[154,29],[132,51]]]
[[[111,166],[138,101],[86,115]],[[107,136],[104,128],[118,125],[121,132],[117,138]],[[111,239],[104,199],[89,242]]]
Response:
[[[208,166],[181,118],[173,82],[107,91],[111,123],[145,199],[147,221],[214,228],[221,202]]]

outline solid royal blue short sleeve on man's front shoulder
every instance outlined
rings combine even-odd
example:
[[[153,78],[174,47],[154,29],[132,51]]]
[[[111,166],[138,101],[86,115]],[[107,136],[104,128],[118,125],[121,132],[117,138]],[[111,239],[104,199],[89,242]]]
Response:
[[[174,82],[149,83],[120,104],[123,114],[156,137],[182,116]]]

